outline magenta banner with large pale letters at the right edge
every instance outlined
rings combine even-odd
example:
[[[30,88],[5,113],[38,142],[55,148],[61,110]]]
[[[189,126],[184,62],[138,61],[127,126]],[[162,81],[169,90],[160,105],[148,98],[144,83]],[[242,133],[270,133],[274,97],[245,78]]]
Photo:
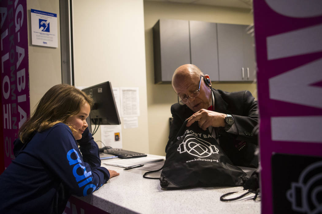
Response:
[[[322,209],[322,1],[253,1],[262,213]]]

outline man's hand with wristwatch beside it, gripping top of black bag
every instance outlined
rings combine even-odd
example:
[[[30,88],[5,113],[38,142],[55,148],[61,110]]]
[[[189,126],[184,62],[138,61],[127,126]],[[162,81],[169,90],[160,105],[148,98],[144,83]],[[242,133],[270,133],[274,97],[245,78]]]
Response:
[[[225,127],[225,117],[227,115],[215,111],[201,109],[188,118],[187,126],[190,126],[195,121],[198,121],[198,126],[202,130],[206,130],[209,126]]]

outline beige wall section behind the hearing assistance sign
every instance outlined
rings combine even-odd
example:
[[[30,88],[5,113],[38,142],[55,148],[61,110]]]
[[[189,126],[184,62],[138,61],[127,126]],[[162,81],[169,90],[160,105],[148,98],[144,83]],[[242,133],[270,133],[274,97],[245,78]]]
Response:
[[[57,48],[31,44],[31,9],[57,13]],[[27,20],[30,108],[32,113],[45,92],[52,86],[62,83],[59,0],[27,0]]]

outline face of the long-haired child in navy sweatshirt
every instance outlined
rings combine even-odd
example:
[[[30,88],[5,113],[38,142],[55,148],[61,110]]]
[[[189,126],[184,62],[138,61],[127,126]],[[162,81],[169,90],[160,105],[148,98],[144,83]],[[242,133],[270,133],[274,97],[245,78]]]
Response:
[[[73,132],[73,136],[76,140],[80,140],[82,138],[82,133],[88,127],[86,122],[86,118],[90,115],[90,105],[85,102],[81,105],[81,110],[77,115],[70,116],[66,120],[66,124],[71,125],[76,132]]]

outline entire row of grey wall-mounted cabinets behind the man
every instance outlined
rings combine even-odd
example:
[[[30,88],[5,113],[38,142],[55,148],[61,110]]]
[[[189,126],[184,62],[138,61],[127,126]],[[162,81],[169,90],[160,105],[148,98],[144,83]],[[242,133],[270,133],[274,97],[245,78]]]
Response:
[[[155,83],[170,83],[182,64],[212,81],[253,81],[255,55],[247,25],[160,19],[153,27]]]

